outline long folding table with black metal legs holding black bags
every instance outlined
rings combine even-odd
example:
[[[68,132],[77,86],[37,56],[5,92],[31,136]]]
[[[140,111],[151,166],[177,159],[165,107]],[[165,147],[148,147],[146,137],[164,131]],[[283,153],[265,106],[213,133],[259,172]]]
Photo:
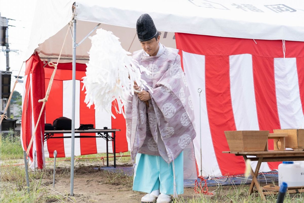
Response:
[[[107,166],[109,166],[109,149],[108,149],[108,142],[113,141],[113,154],[114,154],[114,168],[116,168],[116,144],[115,144],[115,134],[117,131],[120,131],[118,129],[92,129],[92,130],[75,130],[76,133],[97,133],[98,136],[95,135],[77,135],[74,136],[75,138],[104,138],[107,143]],[[71,130],[46,130],[44,131],[44,142],[47,139],[51,138],[71,138],[72,136],[54,136],[54,134],[71,134]],[[110,133],[110,135],[109,135]],[[111,135],[113,133],[113,137]]]

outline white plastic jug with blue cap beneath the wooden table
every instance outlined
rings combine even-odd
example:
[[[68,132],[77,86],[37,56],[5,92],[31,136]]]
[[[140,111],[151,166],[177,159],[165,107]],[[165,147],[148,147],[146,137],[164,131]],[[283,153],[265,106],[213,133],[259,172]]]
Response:
[[[304,187],[304,166],[293,161],[283,161],[278,167],[279,186],[282,182],[288,187]]]

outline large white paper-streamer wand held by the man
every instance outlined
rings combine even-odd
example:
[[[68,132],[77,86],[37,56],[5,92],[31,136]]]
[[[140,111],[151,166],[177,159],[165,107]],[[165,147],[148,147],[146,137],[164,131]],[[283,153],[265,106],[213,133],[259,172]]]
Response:
[[[151,72],[127,55],[130,53],[123,49],[119,38],[112,32],[98,29],[89,39],[92,40],[88,52],[90,60],[86,64],[86,76],[83,77],[85,103],[88,107],[94,104],[96,110],[103,109],[115,118],[111,111],[112,102],[115,101],[116,113],[125,117],[123,105],[128,102],[127,96],[134,95],[136,91],[134,81],[141,89],[146,86],[151,90],[147,82],[140,78],[142,72]]]

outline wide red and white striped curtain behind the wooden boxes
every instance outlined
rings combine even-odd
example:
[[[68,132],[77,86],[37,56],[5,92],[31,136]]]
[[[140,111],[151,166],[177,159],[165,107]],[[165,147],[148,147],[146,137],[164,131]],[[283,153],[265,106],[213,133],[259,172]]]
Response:
[[[176,33],[176,44],[201,114],[203,175],[244,173],[242,157],[229,151],[224,131],[304,127],[304,42],[252,40]],[[201,112],[199,93],[201,88]],[[195,157],[200,163],[199,125]],[[269,142],[273,148],[273,142]],[[198,164],[200,170],[200,164]],[[251,165],[255,168],[256,163]],[[278,168],[262,163],[261,171]]]

